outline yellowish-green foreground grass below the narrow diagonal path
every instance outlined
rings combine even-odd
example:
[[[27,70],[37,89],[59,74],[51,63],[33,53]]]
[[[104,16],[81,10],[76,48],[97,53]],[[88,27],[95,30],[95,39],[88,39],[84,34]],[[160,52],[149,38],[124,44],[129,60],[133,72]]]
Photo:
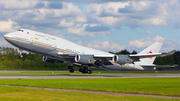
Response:
[[[179,101],[179,99],[47,91],[0,86],[0,101]]]

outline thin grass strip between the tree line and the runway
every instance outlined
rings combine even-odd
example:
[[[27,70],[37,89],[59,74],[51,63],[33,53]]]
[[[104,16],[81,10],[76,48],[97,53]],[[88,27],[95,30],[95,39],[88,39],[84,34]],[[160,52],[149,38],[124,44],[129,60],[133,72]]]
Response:
[[[93,71],[92,74],[82,74],[78,71],[0,71],[0,75],[163,75],[180,74],[180,71]]]

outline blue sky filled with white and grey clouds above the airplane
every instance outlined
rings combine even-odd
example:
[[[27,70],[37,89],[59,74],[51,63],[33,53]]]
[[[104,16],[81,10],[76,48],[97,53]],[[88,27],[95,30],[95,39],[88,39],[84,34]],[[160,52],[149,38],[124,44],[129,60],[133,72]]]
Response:
[[[141,51],[155,41],[180,50],[179,0],[0,0],[3,35],[19,28],[49,33],[83,46]],[[63,43],[61,43],[63,44]]]

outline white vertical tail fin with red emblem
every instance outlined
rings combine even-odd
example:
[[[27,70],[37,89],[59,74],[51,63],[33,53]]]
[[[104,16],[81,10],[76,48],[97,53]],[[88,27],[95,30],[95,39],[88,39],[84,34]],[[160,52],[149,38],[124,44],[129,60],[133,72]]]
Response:
[[[162,43],[160,42],[155,42],[143,51],[141,51],[138,54],[152,54],[152,53],[158,53],[159,50],[161,49]],[[149,58],[140,58],[141,64],[153,64],[154,60],[156,57],[149,57]]]

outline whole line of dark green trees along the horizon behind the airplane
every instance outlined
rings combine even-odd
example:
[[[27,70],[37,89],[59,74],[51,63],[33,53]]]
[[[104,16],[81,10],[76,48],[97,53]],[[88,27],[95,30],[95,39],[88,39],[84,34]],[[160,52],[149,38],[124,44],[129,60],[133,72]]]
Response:
[[[124,49],[119,52],[109,52],[117,55],[137,54],[134,50],[129,52]],[[22,53],[23,58],[19,58],[17,49],[0,47],[0,70],[67,70],[68,63],[47,63],[43,62],[42,55]],[[157,57],[154,64],[157,65],[180,65],[180,51],[173,55]]]

